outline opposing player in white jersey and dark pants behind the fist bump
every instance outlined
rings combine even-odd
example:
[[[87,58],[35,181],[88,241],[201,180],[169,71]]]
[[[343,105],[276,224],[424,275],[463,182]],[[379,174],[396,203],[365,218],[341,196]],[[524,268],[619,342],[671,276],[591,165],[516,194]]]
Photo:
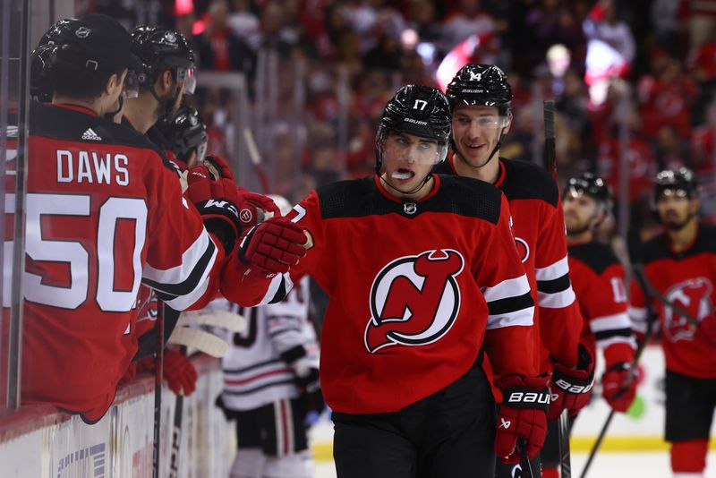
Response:
[[[288,214],[291,204],[271,199]],[[221,360],[224,390],[217,399],[236,423],[235,478],[311,478],[310,414],[320,414],[319,347],[310,318],[309,277],[304,276],[280,303],[243,308],[217,299],[211,310],[243,315],[243,332],[217,334],[229,349]],[[315,419],[314,419],[315,420]]]

